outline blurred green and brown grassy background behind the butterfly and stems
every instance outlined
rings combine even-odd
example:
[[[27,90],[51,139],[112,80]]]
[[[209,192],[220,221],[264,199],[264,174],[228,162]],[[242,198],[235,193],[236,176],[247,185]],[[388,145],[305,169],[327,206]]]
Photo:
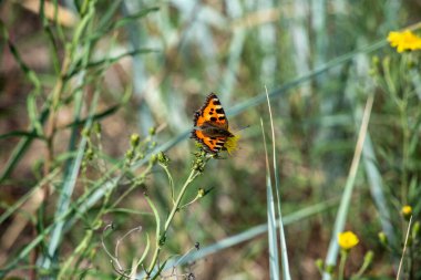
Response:
[[[399,0],[1,1],[3,272],[55,278],[72,256],[69,278],[115,279],[101,246],[109,222],[115,226],[110,248],[143,227],[120,247],[130,267],[142,255],[142,235],[155,227],[145,189],[162,218],[170,208],[164,170],[155,165],[143,175],[147,158],[165,152],[179,188],[196,149],[187,135],[193,113],[215,92],[240,135],[238,149],[210,160],[188,189],[189,198],[198,188],[212,191],[176,215],[165,253],[183,256],[195,242],[223,246],[234,236],[213,253],[201,249],[176,273],[269,279],[267,234],[247,231],[267,222],[266,86],[292,279],[321,278],[315,261],[326,258],[332,238],[369,95],[368,138],[346,222],[360,243],[346,274],[373,250],[367,279],[394,279],[408,225],[400,209],[410,205],[413,221],[421,210],[421,80],[420,55],[398,54],[386,38],[420,14],[421,1]],[[86,141],[81,132],[90,123],[101,131]],[[145,141],[146,159],[127,172],[122,163],[134,133]],[[131,189],[137,176],[142,183]],[[115,178],[109,200],[95,198]],[[60,228],[58,239],[50,226]],[[397,248],[386,249],[379,231]],[[404,279],[421,279],[413,253]]]

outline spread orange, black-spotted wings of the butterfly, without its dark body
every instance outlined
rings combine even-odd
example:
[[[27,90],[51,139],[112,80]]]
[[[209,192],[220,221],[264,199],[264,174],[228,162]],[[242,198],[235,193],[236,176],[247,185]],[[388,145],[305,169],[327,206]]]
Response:
[[[228,120],[225,116],[220,101],[215,93],[210,93],[205,101],[205,104],[201,110],[194,114],[194,129],[192,131],[192,138],[203,144],[205,149],[209,153],[218,153],[224,148],[224,144],[228,136],[212,135],[205,133],[205,131],[197,129],[201,127],[217,127],[222,129],[228,129]]]

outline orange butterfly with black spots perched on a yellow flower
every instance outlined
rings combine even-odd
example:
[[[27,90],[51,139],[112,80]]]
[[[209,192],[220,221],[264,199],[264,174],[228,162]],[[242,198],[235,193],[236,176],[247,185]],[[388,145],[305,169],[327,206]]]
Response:
[[[227,147],[229,152],[232,146],[235,149],[235,143],[230,143],[236,136],[228,131],[228,120],[215,93],[207,95],[205,104],[195,112],[193,122],[191,137],[201,143],[207,153],[217,154],[227,151]]]

